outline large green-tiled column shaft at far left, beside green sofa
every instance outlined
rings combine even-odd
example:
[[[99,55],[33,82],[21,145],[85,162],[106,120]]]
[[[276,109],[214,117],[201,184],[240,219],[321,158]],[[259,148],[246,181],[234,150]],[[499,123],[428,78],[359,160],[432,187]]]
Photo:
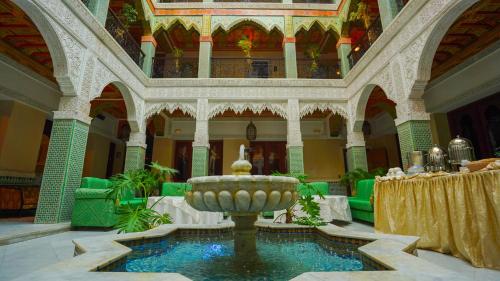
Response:
[[[69,221],[80,186],[89,124],[54,119],[35,223]]]

